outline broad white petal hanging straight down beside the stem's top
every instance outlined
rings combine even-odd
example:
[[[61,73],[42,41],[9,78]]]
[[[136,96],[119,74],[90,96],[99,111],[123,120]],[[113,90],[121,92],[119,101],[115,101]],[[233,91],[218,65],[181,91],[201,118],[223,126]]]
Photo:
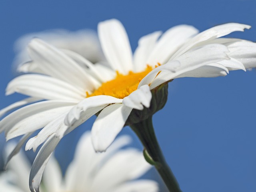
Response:
[[[132,108],[124,104],[105,107],[92,126],[92,143],[96,151],[105,151],[122,130]]]

